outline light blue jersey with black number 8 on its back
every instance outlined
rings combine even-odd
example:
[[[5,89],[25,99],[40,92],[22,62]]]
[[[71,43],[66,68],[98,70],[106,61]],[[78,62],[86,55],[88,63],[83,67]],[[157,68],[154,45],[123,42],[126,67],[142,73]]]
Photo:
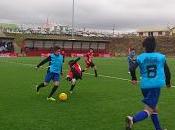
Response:
[[[165,86],[165,55],[160,53],[142,53],[137,57],[140,68],[142,89],[161,88]]]

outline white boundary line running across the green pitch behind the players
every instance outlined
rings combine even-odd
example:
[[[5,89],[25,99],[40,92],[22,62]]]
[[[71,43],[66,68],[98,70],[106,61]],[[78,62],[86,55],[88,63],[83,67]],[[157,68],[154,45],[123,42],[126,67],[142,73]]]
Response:
[[[26,63],[18,63],[18,62],[7,62],[7,61],[5,61],[4,63],[19,64],[19,65],[30,66],[30,67],[35,67],[36,66],[35,64],[26,64]],[[47,69],[47,68],[48,67],[45,67],[44,69]],[[67,70],[65,70],[65,71],[67,71]],[[84,74],[94,76],[94,74],[91,74],[91,73],[84,73]],[[108,75],[102,75],[102,74],[99,74],[98,76],[103,77],[103,78],[110,78],[110,79],[117,79],[117,80],[123,80],[123,81],[131,82],[130,79],[125,79],[125,78],[120,78],[120,77],[114,77],[114,76],[108,76]],[[171,87],[175,88],[175,85],[172,85]]]

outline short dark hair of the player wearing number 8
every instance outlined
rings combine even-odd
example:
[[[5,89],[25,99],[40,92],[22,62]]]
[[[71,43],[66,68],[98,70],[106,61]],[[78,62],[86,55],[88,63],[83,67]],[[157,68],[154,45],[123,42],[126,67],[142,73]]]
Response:
[[[145,38],[142,45],[145,48],[146,52],[154,52],[156,49],[156,40],[153,36],[149,36]]]

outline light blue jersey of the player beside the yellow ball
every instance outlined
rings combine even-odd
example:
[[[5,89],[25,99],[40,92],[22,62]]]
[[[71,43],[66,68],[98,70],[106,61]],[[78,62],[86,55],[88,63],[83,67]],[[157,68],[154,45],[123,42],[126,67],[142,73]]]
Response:
[[[61,54],[51,54],[50,57],[50,72],[60,74],[63,65],[63,56]]]

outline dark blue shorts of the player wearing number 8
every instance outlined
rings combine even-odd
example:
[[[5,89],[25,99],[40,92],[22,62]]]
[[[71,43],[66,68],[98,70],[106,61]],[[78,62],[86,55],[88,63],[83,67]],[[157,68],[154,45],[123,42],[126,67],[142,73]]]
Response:
[[[160,88],[142,89],[144,99],[142,102],[155,109],[160,96]]]

